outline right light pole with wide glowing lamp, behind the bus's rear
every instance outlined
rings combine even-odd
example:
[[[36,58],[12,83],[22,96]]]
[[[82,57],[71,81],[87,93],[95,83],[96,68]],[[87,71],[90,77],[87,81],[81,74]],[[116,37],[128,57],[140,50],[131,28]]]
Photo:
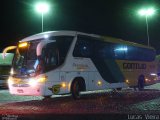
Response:
[[[141,15],[141,16],[145,16],[145,19],[146,19],[148,46],[150,46],[150,43],[149,43],[149,29],[148,29],[148,17],[152,16],[154,14],[154,12],[155,12],[155,10],[153,8],[140,9],[138,11],[138,14]]]

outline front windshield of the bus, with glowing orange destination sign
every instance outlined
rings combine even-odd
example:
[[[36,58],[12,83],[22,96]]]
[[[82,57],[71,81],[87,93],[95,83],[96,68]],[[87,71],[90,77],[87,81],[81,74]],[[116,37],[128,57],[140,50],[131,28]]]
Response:
[[[37,59],[36,46],[39,42],[40,41],[33,41],[26,43],[26,46],[22,45],[17,47],[13,60],[13,69],[15,74],[26,75],[35,72],[34,64]]]

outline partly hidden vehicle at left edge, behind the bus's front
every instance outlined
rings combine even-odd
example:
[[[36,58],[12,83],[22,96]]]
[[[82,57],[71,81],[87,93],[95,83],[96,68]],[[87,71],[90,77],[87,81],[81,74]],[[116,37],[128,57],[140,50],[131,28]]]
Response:
[[[6,53],[4,59],[2,53],[0,53],[0,87],[8,86],[7,80],[10,74],[13,56],[13,53]]]

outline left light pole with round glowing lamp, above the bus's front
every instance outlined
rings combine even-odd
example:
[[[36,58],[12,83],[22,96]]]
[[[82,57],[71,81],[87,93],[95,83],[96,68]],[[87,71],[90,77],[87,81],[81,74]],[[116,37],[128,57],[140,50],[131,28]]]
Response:
[[[43,32],[43,18],[44,14],[49,11],[49,5],[45,2],[37,3],[35,9],[42,16],[42,32]]]

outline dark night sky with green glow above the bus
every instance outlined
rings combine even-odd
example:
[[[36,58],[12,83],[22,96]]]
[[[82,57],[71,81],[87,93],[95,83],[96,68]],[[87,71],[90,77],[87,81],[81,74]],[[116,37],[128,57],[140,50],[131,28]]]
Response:
[[[41,15],[34,10],[40,0],[2,0],[0,50],[41,32]],[[150,45],[160,53],[160,0],[41,0],[51,5],[44,16],[44,31],[76,30],[107,35],[147,45],[145,17],[137,10],[154,7],[148,19]]]

